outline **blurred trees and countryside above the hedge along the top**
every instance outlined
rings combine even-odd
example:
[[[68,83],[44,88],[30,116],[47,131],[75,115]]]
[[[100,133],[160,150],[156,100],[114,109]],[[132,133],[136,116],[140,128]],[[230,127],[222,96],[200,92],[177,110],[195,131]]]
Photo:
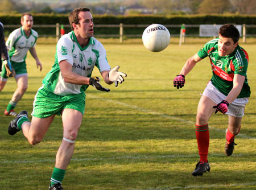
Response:
[[[0,0],[0,13],[69,13],[76,7],[89,7],[93,14],[256,14],[255,0],[104,0],[104,1],[19,1]],[[136,9],[137,8],[137,9]]]

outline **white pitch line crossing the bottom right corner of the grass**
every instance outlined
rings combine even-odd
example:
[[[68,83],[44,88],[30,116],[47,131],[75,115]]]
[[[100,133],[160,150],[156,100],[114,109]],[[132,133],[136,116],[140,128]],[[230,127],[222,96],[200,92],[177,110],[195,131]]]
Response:
[[[171,189],[190,189],[190,188],[216,188],[216,187],[236,187],[247,185],[256,185],[256,183],[234,183],[234,184],[207,184],[207,185],[188,185],[186,187],[156,187],[156,188],[146,188],[146,189],[130,189],[130,190],[171,190]]]

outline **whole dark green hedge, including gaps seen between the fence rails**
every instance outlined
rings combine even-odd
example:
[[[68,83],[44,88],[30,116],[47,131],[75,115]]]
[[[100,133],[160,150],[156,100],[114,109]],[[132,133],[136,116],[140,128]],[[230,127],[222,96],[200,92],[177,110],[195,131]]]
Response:
[[[0,15],[0,21],[5,24],[20,24],[21,14]],[[33,14],[34,24],[69,24],[68,14]],[[114,15],[94,15],[94,24],[256,24],[256,15],[134,15],[134,16],[114,16]],[[15,28],[5,28],[5,35]],[[55,28],[35,28],[39,34],[55,34]],[[179,28],[170,28],[172,34],[179,34]],[[70,28],[65,28],[70,31]],[[125,28],[124,34],[141,34],[143,28]],[[198,34],[198,28],[187,28],[188,34]],[[97,28],[97,34],[119,34],[119,28]],[[256,34],[256,28],[249,28],[247,34]]]

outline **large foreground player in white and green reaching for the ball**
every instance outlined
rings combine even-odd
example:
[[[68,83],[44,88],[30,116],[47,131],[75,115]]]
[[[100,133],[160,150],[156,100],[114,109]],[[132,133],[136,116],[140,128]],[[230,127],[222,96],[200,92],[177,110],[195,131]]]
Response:
[[[63,121],[63,141],[57,151],[55,168],[52,172],[50,190],[61,190],[61,182],[72,158],[77,133],[85,109],[85,90],[89,85],[109,92],[100,84],[98,77],[91,77],[96,66],[106,84],[118,86],[124,81],[125,73],[111,69],[106,51],[93,37],[93,17],[85,7],[69,14],[72,32],[63,35],[56,47],[55,63],[43,80],[35,96],[32,120],[28,121],[27,111],[21,111],[10,122],[8,132],[14,135],[22,130],[30,144],[42,141],[55,115]]]

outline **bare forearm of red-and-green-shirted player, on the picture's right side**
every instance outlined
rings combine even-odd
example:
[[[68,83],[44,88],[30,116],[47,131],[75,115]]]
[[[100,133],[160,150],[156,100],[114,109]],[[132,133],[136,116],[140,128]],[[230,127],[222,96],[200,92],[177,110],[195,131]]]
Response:
[[[228,101],[229,104],[233,102],[240,94],[244,81],[245,81],[245,76],[242,76],[239,74],[234,75],[233,88],[232,90],[230,90],[228,96],[226,97],[226,101]]]

